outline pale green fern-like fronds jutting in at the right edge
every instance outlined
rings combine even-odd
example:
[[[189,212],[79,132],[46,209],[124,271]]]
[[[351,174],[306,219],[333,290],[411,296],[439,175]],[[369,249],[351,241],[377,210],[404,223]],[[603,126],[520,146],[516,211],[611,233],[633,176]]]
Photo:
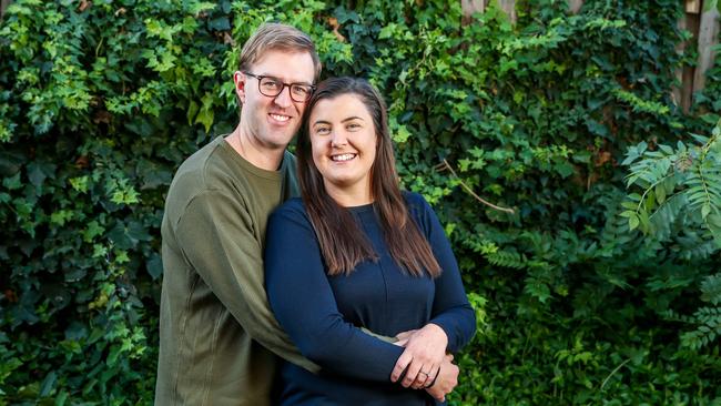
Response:
[[[721,250],[721,120],[710,138],[691,134],[695,143],[678,142],[676,149],[648,144],[629,149],[624,165],[630,166],[621,216],[630,230],[639,229],[660,241],[678,235],[681,230],[700,231],[697,245],[712,255]],[[714,241],[713,250],[704,243]]]

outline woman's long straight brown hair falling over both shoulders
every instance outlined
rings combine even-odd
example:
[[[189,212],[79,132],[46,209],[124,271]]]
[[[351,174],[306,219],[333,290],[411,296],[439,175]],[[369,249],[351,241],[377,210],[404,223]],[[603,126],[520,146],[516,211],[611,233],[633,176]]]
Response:
[[[396,263],[412,275],[440,275],[440,266],[418,225],[408,215],[398,186],[388,115],[380,94],[363,79],[332,78],[318,84],[305,111],[304,124],[297,140],[298,177],[303,202],[328,275],[349,274],[364,260],[376,261],[370,242],[360,232],[347,209],[337,204],[326,192],[323,176],[313,161],[308,118],[321,100],[342,94],[356,95],[373,116],[377,143],[376,159],[370,168],[370,194],[383,229],[384,240]]]

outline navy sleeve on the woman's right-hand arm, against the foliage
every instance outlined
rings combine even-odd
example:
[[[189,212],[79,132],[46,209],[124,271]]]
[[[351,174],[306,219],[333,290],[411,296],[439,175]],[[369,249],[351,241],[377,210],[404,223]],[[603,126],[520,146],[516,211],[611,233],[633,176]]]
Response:
[[[448,336],[448,348],[456,353],[470,342],[476,332],[476,314],[468,303],[460,272],[450,242],[430,205],[419,194],[413,194],[417,217],[430,243],[433,253],[443,270],[436,278],[430,323],[437,324]]]

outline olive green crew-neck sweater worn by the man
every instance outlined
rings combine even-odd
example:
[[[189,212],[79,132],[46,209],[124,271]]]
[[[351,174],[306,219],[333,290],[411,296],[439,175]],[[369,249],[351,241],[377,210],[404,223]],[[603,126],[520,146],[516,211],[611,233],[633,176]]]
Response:
[[[163,216],[163,291],[155,405],[267,405],[275,354],[308,371],[264,291],[268,214],[297,195],[295,159],[278,171],[223,136],[177,170]]]

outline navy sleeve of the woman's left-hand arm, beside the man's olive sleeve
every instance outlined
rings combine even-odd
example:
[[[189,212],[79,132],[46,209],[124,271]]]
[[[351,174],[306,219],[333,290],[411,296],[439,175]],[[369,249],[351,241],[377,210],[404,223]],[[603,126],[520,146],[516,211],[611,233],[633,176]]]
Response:
[[[315,233],[301,209],[268,220],[265,283],[271,307],[301,353],[324,371],[389,382],[403,347],[347,323],[337,308]]]

